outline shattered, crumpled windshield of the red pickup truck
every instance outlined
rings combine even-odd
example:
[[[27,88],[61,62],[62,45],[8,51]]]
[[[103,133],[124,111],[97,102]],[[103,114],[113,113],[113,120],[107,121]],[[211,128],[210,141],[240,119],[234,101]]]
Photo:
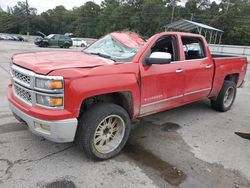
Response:
[[[84,50],[88,54],[107,56],[114,60],[130,60],[138,52],[138,48],[129,48],[111,35],[107,35],[98,40],[88,48]]]

